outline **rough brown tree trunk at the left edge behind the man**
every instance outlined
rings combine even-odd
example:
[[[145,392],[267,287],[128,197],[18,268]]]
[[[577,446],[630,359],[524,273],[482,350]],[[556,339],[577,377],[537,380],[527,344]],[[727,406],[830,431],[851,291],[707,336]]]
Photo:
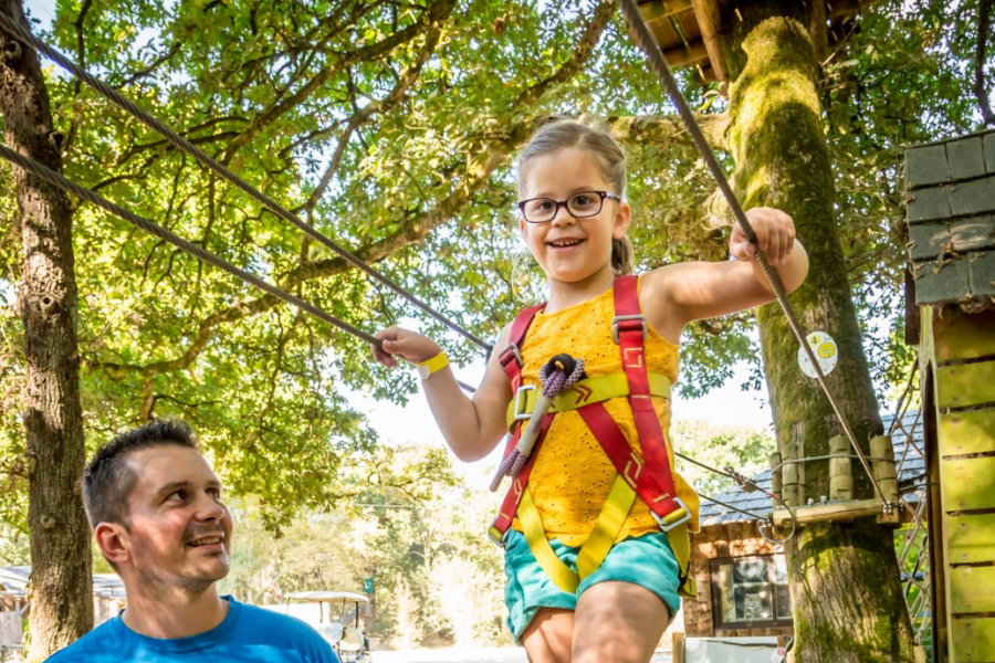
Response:
[[[20,0],[0,10],[28,25]],[[34,51],[0,34],[0,109],[7,145],[61,171]],[[76,348],[72,208],[62,191],[13,169],[24,262],[19,306],[24,322],[24,393],[31,529],[29,661],[45,659],[93,627],[90,528],[80,499],[83,417]]]

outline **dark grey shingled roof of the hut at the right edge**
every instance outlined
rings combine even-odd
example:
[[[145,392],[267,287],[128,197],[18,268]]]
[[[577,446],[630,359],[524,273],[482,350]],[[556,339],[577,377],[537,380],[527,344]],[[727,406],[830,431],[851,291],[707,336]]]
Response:
[[[995,130],[905,150],[915,303],[995,304]]]

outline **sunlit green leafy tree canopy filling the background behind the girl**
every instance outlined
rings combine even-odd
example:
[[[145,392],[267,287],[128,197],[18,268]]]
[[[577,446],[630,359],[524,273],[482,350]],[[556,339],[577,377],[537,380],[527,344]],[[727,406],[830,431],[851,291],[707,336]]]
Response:
[[[882,387],[909,361],[902,150],[980,126],[970,93],[978,6],[878,3],[844,25],[824,63],[838,222]],[[484,338],[541,296],[513,222],[513,158],[549,117],[604,122],[629,149],[640,267],[724,257],[713,183],[612,3],[60,0],[39,33]],[[682,77],[727,158],[725,102],[692,72]],[[368,332],[420,320],[85,85],[54,69],[49,85],[72,179]],[[15,219],[9,170],[0,172],[0,213]],[[0,242],[0,509],[22,523],[13,225]],[[402,401],[411,376],[387,372],[365,344],[90,206],[75,213],[74,241],[91,445],[151,415],[181,415],[273,527],[302,505],[356,494],[339,471],[373,459],[377,440],[346,394]],[[876,332],[882,319],[890,326]],[[457,360],[476,356],[437,322],[420,324]],[[721,383],[736,360],[755,361],[751,325],[743,315],[689,329],[684,394]]]

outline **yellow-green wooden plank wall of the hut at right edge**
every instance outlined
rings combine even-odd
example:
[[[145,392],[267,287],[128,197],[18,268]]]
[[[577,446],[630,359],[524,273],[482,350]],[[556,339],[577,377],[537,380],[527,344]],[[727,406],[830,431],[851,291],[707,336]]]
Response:
[[[933,317],[931,326],[950,661],[992,663],[995,312],[966,314],[947,309],[942,317]]]

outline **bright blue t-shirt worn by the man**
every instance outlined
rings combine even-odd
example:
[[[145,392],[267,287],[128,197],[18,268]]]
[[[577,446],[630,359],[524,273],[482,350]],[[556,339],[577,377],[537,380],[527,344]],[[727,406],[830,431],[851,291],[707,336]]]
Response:
[[[239,603],[231,597],[220,624],[199,635],[167,640],[136,633],[121,615],[49,657],[48,663],[339,663],[332,645],[298,619]]]

